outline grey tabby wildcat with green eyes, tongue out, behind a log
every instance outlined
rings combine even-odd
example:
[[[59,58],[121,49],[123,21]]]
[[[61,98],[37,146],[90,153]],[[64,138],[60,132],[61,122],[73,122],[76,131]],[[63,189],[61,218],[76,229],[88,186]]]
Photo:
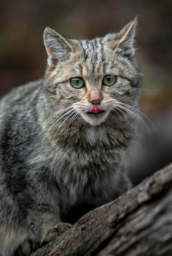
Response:
[[[29,255],[131,189],[136,27],[93,40],[46,27],[44,79],[0,100],[0,256]]]

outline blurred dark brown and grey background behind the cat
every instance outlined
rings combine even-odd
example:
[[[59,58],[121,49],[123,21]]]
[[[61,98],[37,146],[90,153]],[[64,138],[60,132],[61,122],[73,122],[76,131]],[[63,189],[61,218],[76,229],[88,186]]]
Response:
[[[6,0],[0,9],[0,96],[44,75],[46,25],[64,36],[91,39],[120,31],[137,15],[141,110],[158,136],[143,116],[153,139],[144,127],[131,159],[134,184],[172,162],[172,1]]]

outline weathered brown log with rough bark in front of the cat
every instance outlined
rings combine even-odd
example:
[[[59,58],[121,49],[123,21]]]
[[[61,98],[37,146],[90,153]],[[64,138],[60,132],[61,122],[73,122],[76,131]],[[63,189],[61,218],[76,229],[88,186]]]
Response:
[[[172,164],[31,256],[172,256]]]

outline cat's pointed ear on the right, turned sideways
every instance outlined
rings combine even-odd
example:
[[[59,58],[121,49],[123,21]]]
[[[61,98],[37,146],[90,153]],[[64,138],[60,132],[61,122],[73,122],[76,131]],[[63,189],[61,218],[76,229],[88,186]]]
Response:
[[[119,49],[123,54],[133,56],[135,54],[135,34],[137,17],[129,22],[119,33],[112,34],[109,47],[113,50]]]

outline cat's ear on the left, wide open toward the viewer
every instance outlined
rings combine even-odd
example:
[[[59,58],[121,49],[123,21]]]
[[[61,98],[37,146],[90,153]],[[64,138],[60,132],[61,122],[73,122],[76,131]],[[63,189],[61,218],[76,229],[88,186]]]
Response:
[[[48,54],[48,65],[54,65],[58,61],[64,60],[72,51],[72,45],[50,27],[46,27],[44,30],[44,45]]]

